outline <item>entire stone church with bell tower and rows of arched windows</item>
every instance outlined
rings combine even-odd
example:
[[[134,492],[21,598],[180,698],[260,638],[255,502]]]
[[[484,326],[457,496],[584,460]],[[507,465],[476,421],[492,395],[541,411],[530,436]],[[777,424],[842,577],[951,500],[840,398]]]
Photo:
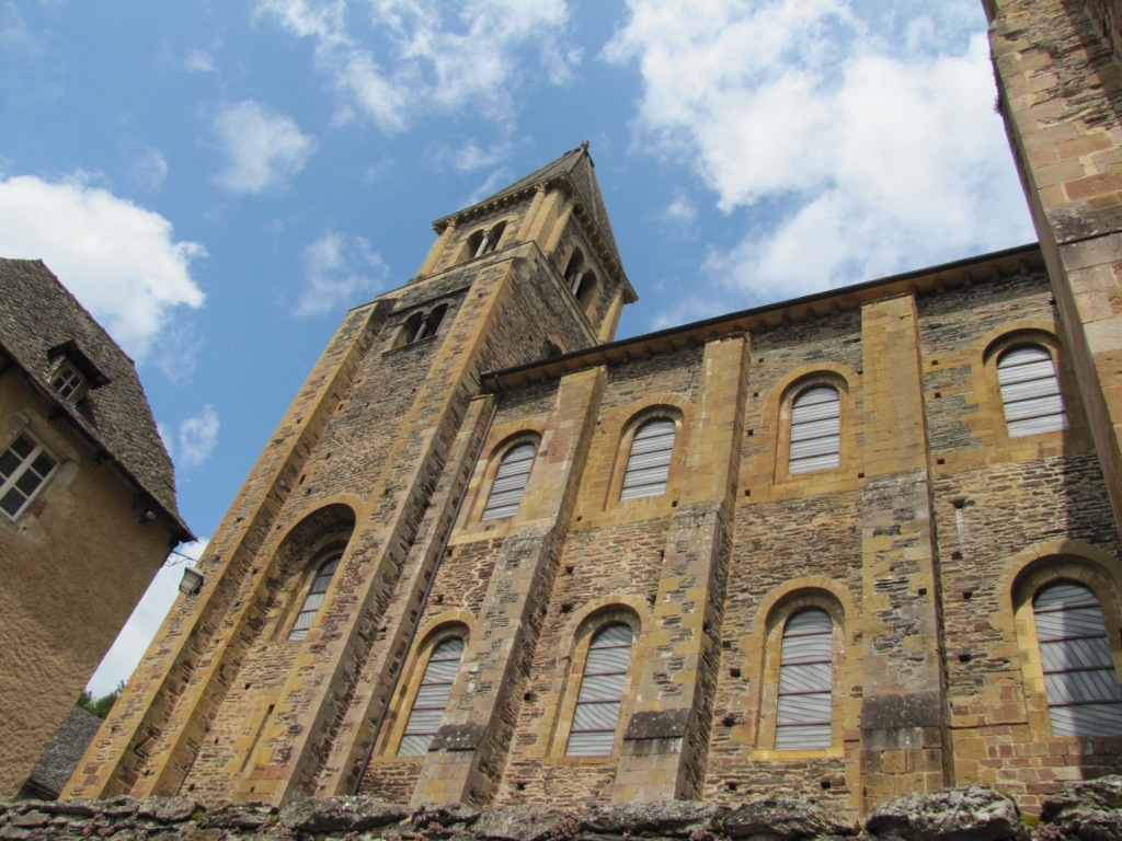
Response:
[[[611,341],[587,147],[438,220],[64,795],[857,815],[1118,770],[1122,16],[986,6],[1040,246]]]

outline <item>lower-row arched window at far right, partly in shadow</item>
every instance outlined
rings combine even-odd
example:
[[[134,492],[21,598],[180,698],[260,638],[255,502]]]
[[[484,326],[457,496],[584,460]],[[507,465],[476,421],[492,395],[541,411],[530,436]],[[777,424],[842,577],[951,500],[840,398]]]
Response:
[[[1091,588],[1057,581],[1032,600],[1054,736],[1122,736],[1122,693]]]

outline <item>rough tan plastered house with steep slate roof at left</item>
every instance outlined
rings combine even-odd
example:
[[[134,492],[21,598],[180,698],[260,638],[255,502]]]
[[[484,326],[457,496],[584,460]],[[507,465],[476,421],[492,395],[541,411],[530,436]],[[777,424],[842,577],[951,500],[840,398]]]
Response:
[[[132,361],[40,261],[0,259],[0,797],[190,539]]]

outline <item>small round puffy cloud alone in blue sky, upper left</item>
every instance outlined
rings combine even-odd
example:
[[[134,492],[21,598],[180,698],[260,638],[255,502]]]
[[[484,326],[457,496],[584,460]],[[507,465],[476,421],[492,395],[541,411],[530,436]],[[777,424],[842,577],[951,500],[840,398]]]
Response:
[[[217,181],[231,193],[283,186],[315,150],[315,139],[302,133],[295,120],[254,100],[219,109],[213,131],[227,156]]]

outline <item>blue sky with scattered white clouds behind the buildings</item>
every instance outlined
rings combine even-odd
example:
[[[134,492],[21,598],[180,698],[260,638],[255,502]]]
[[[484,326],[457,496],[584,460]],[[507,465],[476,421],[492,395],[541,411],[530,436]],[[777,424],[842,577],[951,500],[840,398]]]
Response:
[[[432,220],[588,139],[634,335],[1032,240],[993,101],[981,0],[0,0],[0,255],[137,361],[205,539]]]

